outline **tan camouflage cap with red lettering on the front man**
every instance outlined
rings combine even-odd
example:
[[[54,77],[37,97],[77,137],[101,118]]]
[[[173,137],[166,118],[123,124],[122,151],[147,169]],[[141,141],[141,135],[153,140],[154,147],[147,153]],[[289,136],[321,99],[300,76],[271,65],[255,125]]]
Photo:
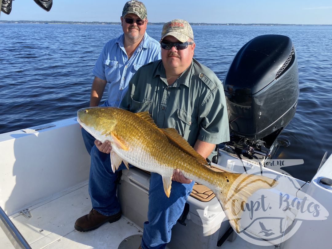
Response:
[[[182,19],[174,19],[164,24],[160,41],[162,41],[166,36],[173,36],[181,42],[188,41],[189,38],[194,40],[194,34],[191,26],[186,20]]]

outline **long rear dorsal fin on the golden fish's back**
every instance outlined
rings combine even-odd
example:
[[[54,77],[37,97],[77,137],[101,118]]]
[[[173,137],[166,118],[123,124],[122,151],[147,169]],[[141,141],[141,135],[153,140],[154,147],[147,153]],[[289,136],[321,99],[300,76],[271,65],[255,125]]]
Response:
[[[173,142],[175,142],[177,145],[179,145],[183,150],[185,150],[188,154],[195,157],[197,160],[200,161],[200,163],[207,165],[206,159],[204,159],[203,156],[198,154],[196,150],[194,150],[193,147],[184,139],[179,132],[174,128],[164,128],[160,129],[164,134]]]

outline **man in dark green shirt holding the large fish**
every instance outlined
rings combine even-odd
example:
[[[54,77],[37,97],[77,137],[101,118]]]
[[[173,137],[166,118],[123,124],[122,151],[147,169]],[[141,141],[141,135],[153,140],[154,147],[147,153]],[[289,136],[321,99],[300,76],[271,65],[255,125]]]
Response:
[[[159,128],[176,128],[199,154],[210,159],[216,144],[229,140],[222,83],[210,69],[193,59],[194,35],[187,21],[166,23],[160,44],[162,59],[135,73],[120,107],[135,113],[148,111]],[[108,141],[96,146],[101,152],[112,150]],[[172,180],[172,195],[167,198],[161,176],[151,173],[143,249],[165,248],[171,239],[171,228],[192,191],[194,182],[179,170],[174,171]]]

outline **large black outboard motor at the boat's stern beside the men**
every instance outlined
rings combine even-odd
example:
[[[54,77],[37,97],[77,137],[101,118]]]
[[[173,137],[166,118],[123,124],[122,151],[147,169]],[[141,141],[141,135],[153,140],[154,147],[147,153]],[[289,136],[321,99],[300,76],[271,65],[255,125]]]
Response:
[[[293,42],[281,35],[258,36],[247,42],[235,55],[223,85],[229,145],[240,154],[249,152],[249,158],[253,154],[269,158],[296,110],[299,85]]]

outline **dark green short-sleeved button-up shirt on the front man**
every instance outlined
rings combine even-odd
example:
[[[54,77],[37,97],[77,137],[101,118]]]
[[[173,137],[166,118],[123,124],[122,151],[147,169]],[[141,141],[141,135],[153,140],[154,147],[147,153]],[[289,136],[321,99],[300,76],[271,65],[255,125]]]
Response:
[[[177,129],[191,146],[197,139],[213,144],[229,141],[222,83],[195,59],[171,85],[161,60],[142,66],[131,78],[120,107],[148,111],[159,128]]]

